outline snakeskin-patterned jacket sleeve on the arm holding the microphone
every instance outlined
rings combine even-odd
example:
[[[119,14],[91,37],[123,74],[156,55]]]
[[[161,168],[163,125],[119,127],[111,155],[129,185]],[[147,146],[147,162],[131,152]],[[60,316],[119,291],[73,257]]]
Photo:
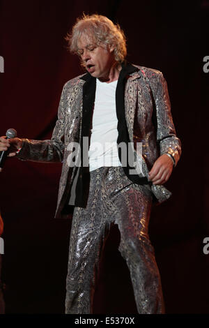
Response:
[[[51,140],[22,139],[22,149],[17,158],[38,162],[61,162],[64,153],[64,126],[65,126],[65,89],[63,87],[59,102],[58,119],[52,133]]]

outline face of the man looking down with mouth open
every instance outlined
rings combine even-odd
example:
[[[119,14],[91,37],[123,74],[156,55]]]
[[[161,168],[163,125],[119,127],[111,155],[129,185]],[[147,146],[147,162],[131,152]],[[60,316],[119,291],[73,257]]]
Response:
[[[114,49],[96,45],[91,38],[82,36],[78,41],[78,54],[88,73],[93,77],[108,78],[114,65]]]

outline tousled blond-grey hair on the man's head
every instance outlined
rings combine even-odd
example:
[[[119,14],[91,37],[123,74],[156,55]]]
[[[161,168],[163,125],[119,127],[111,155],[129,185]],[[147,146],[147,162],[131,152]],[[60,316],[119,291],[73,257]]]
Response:
[[[78,54],[78,41],[82,35],[91,38],[96,45],[114,47],[114,57],[119,63],[123,62],[127,50],[126,40],[121,27],[114,24],[109,18],[102,15],[83,15],[77,19],[72,27],[72,33],[68,33],[65,40],[68,41],[68,49],[73,54]]]

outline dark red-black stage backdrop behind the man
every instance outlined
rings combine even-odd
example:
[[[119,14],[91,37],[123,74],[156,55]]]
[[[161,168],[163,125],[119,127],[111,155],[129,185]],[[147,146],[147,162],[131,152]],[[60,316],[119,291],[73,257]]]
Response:
[[[184,6],[183,6],[184,3]],[[167,313],[209,313],[207,212],[208,1],[0,1],[0,135],[48,139],[63,84],[79,75],[64,37],[78,16],[107,15],[127,36],[127,59],[162,70],[183,155],[153,209],[150,237]],[[8,159],[0,175],[7,313],[63,313],[70,221],[54,220],[61,165]],[[136,313],[129,272],[111,231],[95,313]]]

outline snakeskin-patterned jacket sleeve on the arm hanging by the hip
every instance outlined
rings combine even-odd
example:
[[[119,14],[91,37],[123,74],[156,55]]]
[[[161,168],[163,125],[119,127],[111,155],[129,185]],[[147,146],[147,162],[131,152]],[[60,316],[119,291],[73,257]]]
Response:
[[[160,155],[170,154],[175,163],[178,163],[181,154],[181,143],[176,137],[176,130],[171,116],[171,104],[167,89],[167,82],[161,72],[158,72],[157,91],[154,95],[157,119],[157,143],[160,146]]]

